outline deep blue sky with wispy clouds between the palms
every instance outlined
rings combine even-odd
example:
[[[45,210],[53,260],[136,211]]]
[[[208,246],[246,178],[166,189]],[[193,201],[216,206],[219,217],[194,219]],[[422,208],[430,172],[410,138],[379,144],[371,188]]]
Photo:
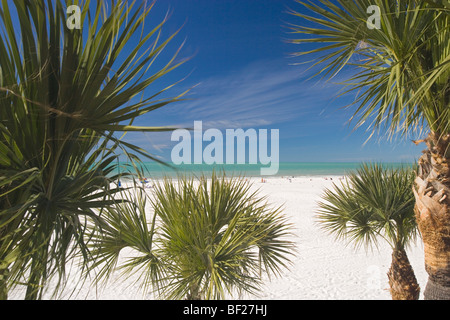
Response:
[[[279,129],[281,162],[414,161],[424,146],[410,140],[369,137],[365,128],[348,123],[352,97],[337,98],[341,86],[308,80],[309,65],[286,41],[288,23],[301,23],[288,9],[301,10],[294,0],[158,0],[150,19],[170,18],[166,35],[182,27],[166,52],[183,41],[182,57],[191,57],[164,81],[184,80],[169,94],[191,88],[189,101],[179,102],[140,119],[142,125],[204,129]],[[342,75],[345,76],[345,75]],[[130,134],[130,142],[170,160],[175,145],[170,134]]]

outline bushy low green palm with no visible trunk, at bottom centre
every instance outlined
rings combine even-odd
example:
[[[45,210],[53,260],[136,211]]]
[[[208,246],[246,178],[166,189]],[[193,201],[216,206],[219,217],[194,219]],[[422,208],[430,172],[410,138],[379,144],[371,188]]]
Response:
[[[198,184],[165,180],[153,202],[161,219],[159,256],[168,298],[223,299],[233,290],[256,293],[261,274],[287,267],[290,225],[242,178],[213,174]]]

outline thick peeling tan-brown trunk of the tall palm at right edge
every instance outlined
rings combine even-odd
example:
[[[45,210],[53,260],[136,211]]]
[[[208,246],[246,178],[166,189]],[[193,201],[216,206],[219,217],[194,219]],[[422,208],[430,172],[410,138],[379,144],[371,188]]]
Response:
[[[414,195],[425,248],[427,300],[450,300],[450,135],[430,133],[419,159]]]

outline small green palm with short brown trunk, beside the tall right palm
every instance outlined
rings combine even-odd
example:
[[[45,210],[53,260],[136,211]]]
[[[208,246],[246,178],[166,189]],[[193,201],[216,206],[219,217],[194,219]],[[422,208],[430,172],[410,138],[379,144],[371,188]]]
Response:
[[[342,186],[325,190],[317,214],[324,230],[356,247],[377,246],[379,239],[389,243],[393,252],[388,278],[394,300],[418,299],[420,293],[405,251],[418,234],[414,176],[410,169],[363,164]]]

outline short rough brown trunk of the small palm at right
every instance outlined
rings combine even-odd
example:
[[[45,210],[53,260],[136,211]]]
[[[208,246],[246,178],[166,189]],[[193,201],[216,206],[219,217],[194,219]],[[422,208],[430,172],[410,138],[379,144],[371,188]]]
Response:
[[[405,250],[392,252],[392,264],[388,272],[392,300],[417,300],[420,287]]]

